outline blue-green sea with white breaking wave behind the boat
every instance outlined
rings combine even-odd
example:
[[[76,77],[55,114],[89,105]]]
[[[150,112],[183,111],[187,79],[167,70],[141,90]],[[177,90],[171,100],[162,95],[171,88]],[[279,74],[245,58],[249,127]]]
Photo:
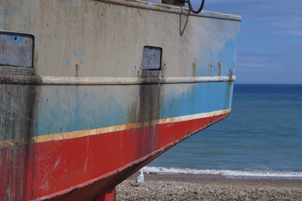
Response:
[[[228,118],[143,170],[302,179],[302,84],[235,84]]]

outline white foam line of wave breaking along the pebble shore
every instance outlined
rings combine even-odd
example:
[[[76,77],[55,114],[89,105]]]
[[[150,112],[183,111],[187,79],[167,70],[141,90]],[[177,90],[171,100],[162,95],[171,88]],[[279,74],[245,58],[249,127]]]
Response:
[[[199,170],[188,168],[173,168],[173,167],[143,167],[144,172],[154,173],[182,173],[182,174],[204,174],[204,175],[222,175],[222,176],[242,176],[242,177],[301,177],[302,172],[290,171],[237,171],[237,170]]]

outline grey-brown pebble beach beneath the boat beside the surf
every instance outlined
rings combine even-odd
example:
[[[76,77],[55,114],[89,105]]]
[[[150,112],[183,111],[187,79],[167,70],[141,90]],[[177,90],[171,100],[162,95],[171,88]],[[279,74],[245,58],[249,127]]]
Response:
[[[302,180],[136,175],[116,188],[116,200],[302,200]]]

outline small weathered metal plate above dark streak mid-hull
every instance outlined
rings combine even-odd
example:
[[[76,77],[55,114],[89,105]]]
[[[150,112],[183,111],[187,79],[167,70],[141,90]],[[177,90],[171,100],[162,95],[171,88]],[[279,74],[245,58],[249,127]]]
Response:
[[[142,70],[161,68],[162,48],[144,46],[142,51]]]

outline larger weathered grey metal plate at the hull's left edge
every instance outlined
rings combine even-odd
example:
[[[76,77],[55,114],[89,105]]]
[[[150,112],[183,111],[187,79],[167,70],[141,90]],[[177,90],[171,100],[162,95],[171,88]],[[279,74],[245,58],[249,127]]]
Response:
[[[32,35],[0,32],[0,65],[32,67]]]

